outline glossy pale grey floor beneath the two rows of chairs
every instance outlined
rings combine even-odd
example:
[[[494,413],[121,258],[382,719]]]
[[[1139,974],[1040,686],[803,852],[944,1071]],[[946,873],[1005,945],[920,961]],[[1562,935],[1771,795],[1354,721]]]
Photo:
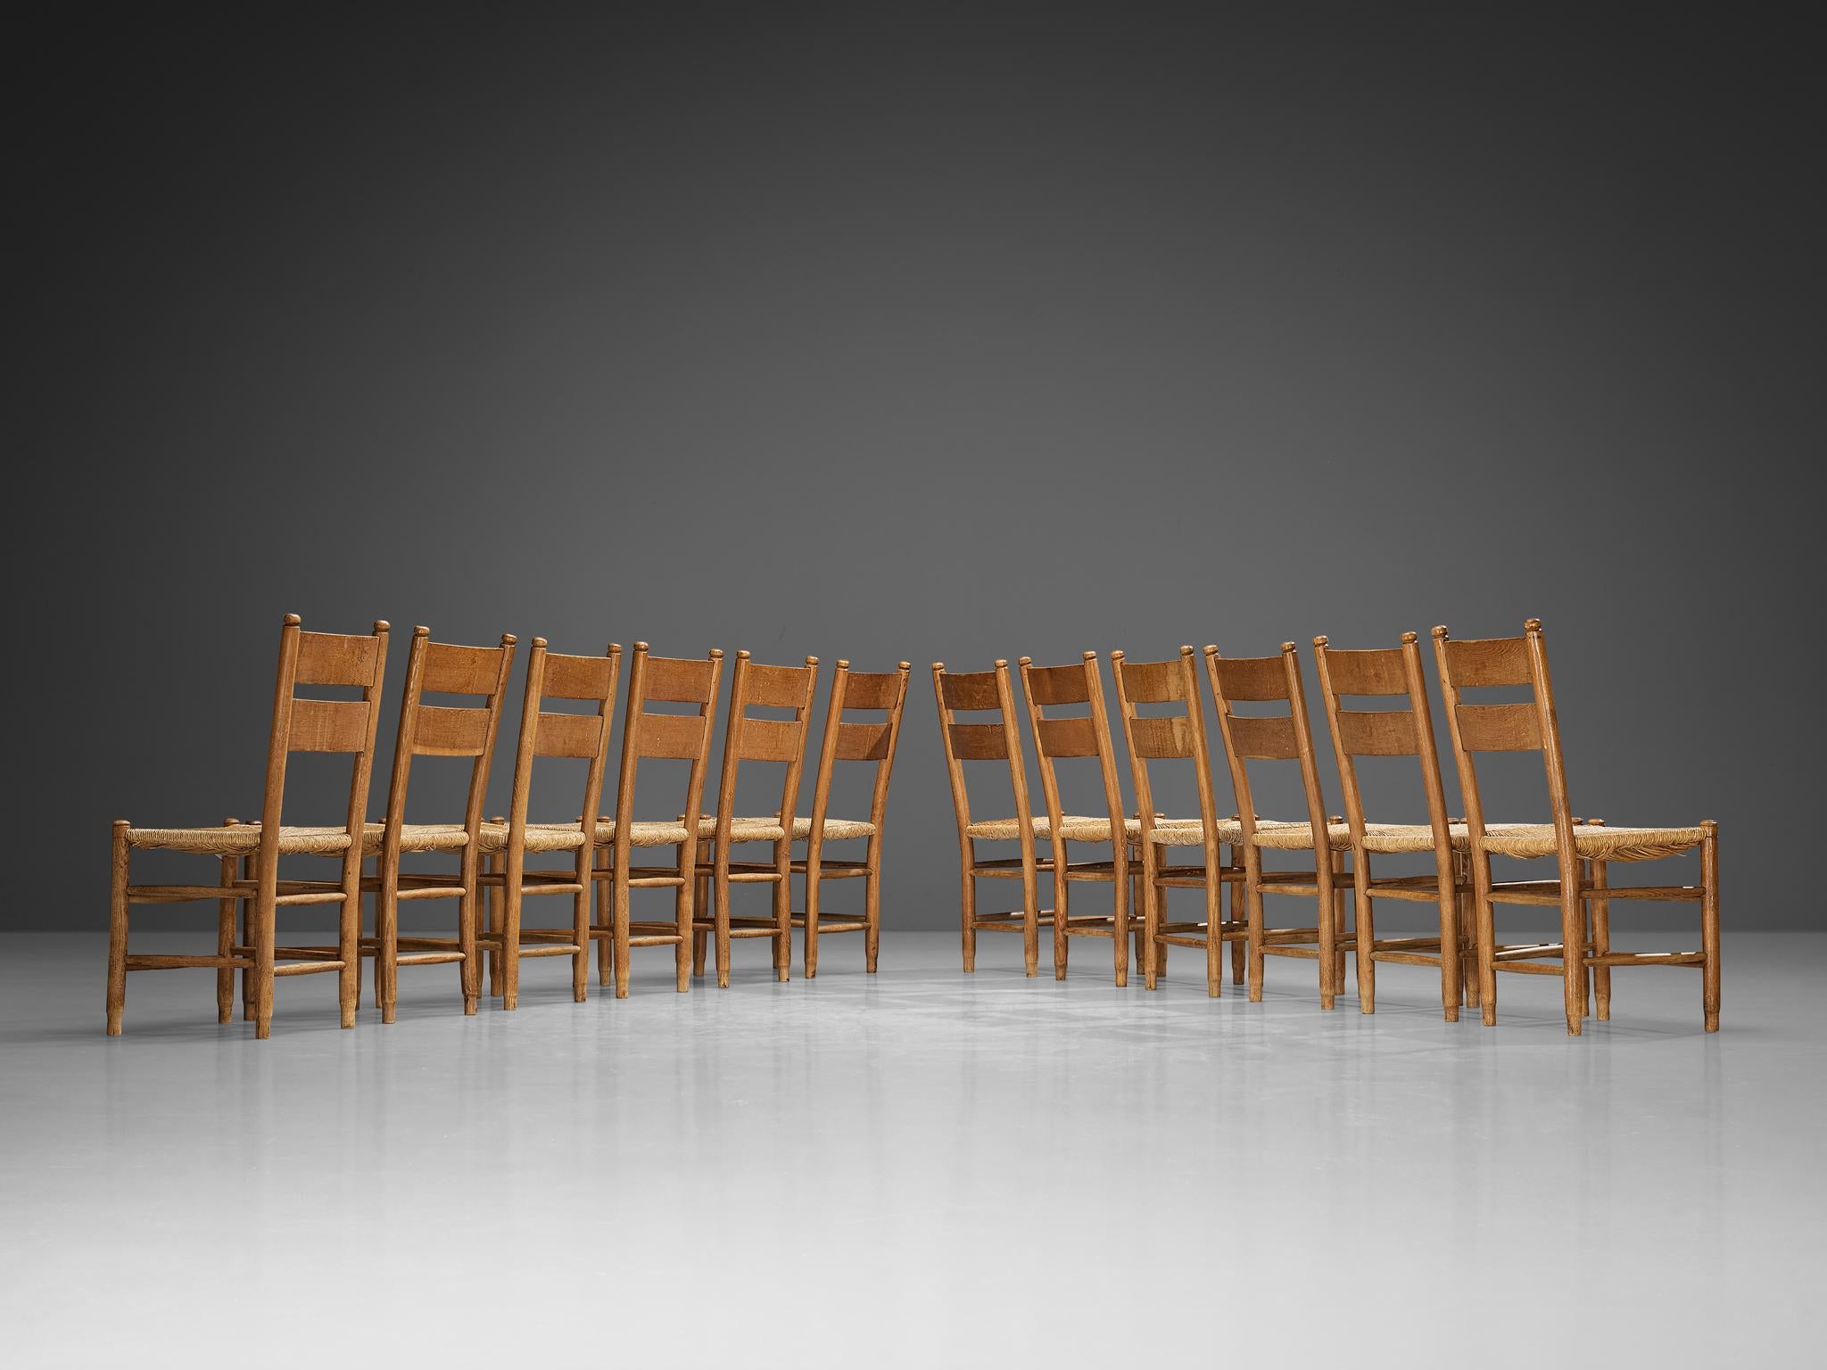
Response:
[[[1487,1030],[1425,970],[1365,1017],[1076,948],[901,933],[866,977],[833,937],[775,985],[747,944],[689,996],[649,954],[581,1006],[546,961],[473,1019],[422,968],[354,1032],[311,977],[254,1043],[208,972],[132,975],[106,1039],[102,941],[5,937],[4,1359],[1809,1359],[1827,935],[1730,937],[1719,1036],[1639,970],[1577,1041],[1555,981]]]

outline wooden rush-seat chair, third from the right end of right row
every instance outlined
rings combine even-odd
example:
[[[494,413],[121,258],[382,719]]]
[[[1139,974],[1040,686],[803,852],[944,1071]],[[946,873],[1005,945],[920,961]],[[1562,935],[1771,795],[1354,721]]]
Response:
[[[1306,692],[1301,687],[1301,659],[1294,643],[1281,645],[1281,656],[1219,656],[1206,648],[1206,678],[1219,709],[1219,732],[1237,795],[1237,822],[1242,827],[1244,899],[1250,919],[1250,1001],[1262,997],[1262,963],[1270,955],[1319,961],[1319,1006],[1332,1008],[1345,988],[1345,952],[1354,946],[1345,930],[1345,855],[1350,829],[1343,818],[1326,818],[1319,765],[1314,758],[1314,732],[1306,720]],[[1286,712],[1255,716],[1237,712],[1239,703],[1283,703]],[[1261,818],[1250,789],[1250,762],[1297,762],[1306,798],[1306,822]],[[1264,871],[1262,851],[1312,851],[1314,871]],[[1317,919],[1312,928],[1264,928],[1262,895],[1312,895]]]

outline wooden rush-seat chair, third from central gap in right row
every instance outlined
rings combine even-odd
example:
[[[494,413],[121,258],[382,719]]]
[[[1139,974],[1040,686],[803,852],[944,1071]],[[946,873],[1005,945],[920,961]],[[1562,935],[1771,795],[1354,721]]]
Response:
[[[1237,864],[1242,826],[1219,818],[1211,789],[1211,753],[1206,745],[1206,711],[1199,701],[1199,674],[1193,648],[1182,647],[1171,661],[1131,661],[1111,652],[1116,678],[1116,707],[1129,747],[1129,773],[1136,791],[1136,817],[1129,820],[1142,860],[1142,983],[1153,990],[1166,968],[1169,946],[1200,948],[1206,954],[1206,994],[1224,992],[1224,944],[1231,948],[1231,974],[1242,979],[1242,957],[1250,924],[1237,917],[1237,886],[1244,868]],[[1144,714],[1142,707],[1178,705],[1171,714]],[[1193,771],[1199,815],[1169,818],[1155,809],[1149,762],[1186,762]],[[1200,860],[1171,862],[1173,848],[1199,848]],[[1230,849],[1231,859],[1224,859]],[[1231,917],[1224,917],[1224,888],[1231,888]],[[1206,899],[1204,921],[1167,917],[1169,890],[1200,890]],[[1120,981],[1118,981],[1120,983]]]

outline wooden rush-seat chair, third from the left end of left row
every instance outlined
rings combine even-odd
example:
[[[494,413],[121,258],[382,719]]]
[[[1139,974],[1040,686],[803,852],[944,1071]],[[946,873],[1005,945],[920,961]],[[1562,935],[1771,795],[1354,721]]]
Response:
[[[570,758],[585,764],[579,815],[594,815],[603,795],[603,767],[608,758],[608,723],[616,707],[621,672],[621,647],[608,645],[603,656],[561,656],[546,650],[544,638],[533,638],[526,654],[526,692],[521,703],[521,732],[513,754],[513,789],[506,822],[482,824],[479,848],[488,859],[477,886],[488,893],[488,930],[475,933],[477,946],[490,954],[490,994],[512,1012],[521,1001],[521,961],[524,957],[568,955],[572,959],[572,999],[585,1001],[590,983],[590,880],[596,864],[597,824],[590,817],[572,822],[530,822],[533,764],[541,758]],[[596,705],[590,712],[548,712],[548,700]],[[526,857],[572,855],[570,869],[526,869]],[[533,897],[572,901],[570,928],[528,928],[523,904]]]

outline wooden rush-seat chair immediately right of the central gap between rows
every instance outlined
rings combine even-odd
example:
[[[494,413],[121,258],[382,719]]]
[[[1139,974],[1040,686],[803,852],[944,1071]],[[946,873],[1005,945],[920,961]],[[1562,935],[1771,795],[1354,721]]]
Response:
[[[1052,859],[1041,860],[1034,855],[1034,838],[1051,837],[1051,829],[1045,818],[1034,818],[1029,809],[1027,764],[1021,760],[1021,734],[1016,727],[1014,694],[1009,689],[1009,663],[998,661],[994,670],[950,672],[943,661],[934,661],[932,689],[939,701],[939,742],[945,747],[952,809],[957,815],[965,972],[977,968],[979,932],[1018,932],[1021,933],[1021,963],[1027,974],[1034,975],[1040,972],[1040,930],[1052,926],[1052,912],[1040,908],[1038,893],[1038,875],[1043,869],[1052,869]],[[996,722],[959,723],[959,712],[994,712]],[[1009,767],[1014,818],[972,818],[965,762],[1001,762]],[[977,842],[1016,842],[1021,855],[985,859],[977,855]],[[977,880],[1021,880],[1021,910],[979,913]]]

